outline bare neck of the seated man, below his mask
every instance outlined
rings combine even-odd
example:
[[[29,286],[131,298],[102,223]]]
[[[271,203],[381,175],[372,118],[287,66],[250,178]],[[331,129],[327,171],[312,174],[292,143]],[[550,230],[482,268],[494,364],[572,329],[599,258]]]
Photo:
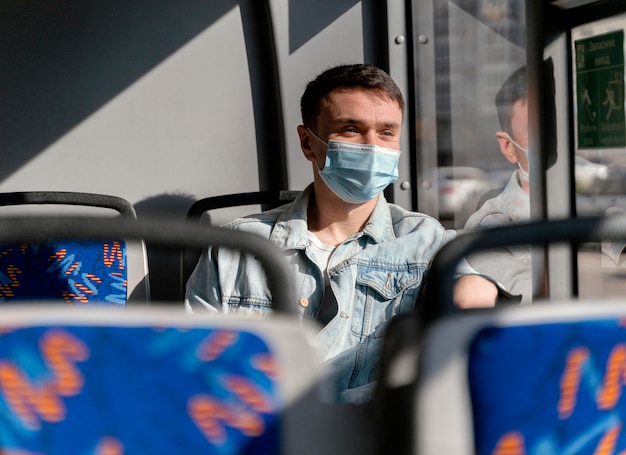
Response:
[[[360,232],[369,220],[378,198],[363,204],[348,204],[339,198],[320,197],[317,189],[309,204],[309,231],[327,245],[339,245]]]

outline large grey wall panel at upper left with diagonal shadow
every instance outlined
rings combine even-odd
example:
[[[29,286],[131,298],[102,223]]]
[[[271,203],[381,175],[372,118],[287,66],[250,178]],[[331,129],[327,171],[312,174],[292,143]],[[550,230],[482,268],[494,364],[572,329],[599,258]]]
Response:
[[[184,205],[257,188],[237,1],[9,0],[0,11],[0,191]]]

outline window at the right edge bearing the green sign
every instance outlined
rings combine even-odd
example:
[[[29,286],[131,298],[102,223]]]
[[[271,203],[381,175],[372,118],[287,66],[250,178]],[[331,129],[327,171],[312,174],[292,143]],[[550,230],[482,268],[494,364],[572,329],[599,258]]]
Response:
[[[626,14],[572,29],[572,97],[576,213],[623,215],[626,209],[624,29]],[[626,293],[626,243],[578,251],[581,297]],[[602,254],[597,254],[601,250]]]

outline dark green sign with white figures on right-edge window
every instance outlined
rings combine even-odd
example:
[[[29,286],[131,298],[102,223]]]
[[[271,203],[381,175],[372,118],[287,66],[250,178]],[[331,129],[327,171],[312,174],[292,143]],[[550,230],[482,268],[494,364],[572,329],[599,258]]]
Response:
[[[624,31],[574,42],[578,148],[626,146]]]

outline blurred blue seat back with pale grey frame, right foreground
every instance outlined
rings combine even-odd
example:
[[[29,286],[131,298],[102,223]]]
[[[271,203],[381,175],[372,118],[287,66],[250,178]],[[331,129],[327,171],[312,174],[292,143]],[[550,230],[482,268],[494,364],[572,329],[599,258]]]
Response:
[[[623,453],[625,321],[615,300],[435,323],[419,360],[412,453]]]

